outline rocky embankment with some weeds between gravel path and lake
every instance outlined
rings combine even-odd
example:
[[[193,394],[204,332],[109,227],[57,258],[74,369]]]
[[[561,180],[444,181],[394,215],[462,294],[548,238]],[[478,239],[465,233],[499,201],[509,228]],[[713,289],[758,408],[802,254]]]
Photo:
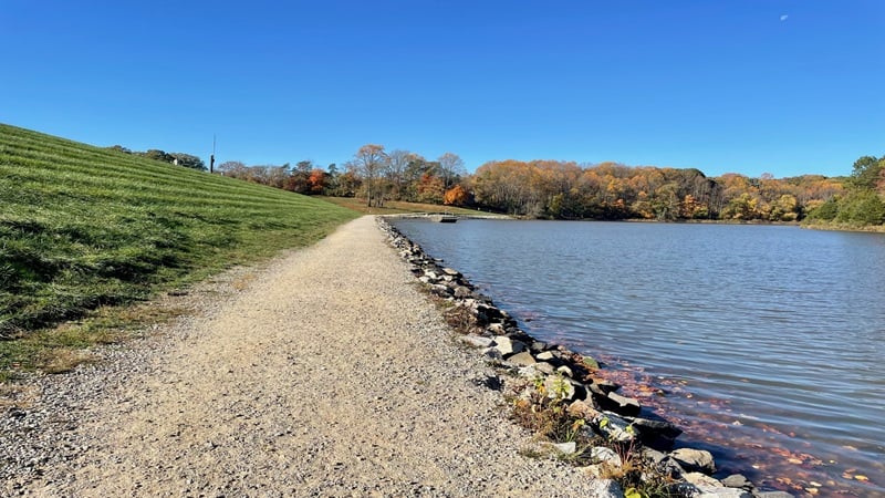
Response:
[[[586,432],[585,440],[606,440],[615,447],[631,448],[633,458],[654,469],[670,483],[669,490],[681,496],[717,498],[784,498],[784,491],[763,491],[742,475],[714,478],[716,463],[702,449],[674,449],[681,429],[643,411],[635,398],[617,393],[616,384],[601,380],[594,372],[595,361],[569,351],[562,345],[548,344],[520,330],[507,311],[477,291],[455,269],[446,268],[383,218],[379,225],[399,256],[408,261],[415,277],[430,293],[449,301],[456,314],[468,317],[459,339],[478,351],[501,372],[506,384],[516,387],[517,400],[530,400],[542,393],[555,398],[556,406],[568,411]],[[590,458],[571,458],[584,470],[601,477],[617,474],[618,467],[629,465],[622,455],[605,446],[579,448],[574,440],[552,445],[564,458],[582,452]],[[635,464],[635,463],[634,463]]]

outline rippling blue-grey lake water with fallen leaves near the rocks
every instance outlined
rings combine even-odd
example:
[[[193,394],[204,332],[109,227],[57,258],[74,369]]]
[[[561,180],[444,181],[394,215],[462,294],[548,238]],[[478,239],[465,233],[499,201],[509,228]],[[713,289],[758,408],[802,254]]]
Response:
[[[798,496],[885,496],[885,236],[395,225],[530,334],[606,362],[623,391],[686,430],[680,442],[711,449],[722,476]]]

